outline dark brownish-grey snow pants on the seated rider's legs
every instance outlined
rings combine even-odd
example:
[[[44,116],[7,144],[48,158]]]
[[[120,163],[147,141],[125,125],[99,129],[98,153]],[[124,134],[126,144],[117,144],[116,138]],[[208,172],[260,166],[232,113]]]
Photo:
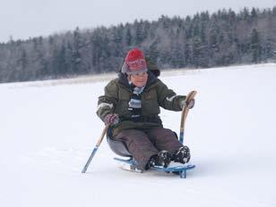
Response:
[[[138,167],[141,170],[145,169],[151,156],[161,150],[167,150],[169,153],[174,154],[183,146],[177,140],[175,133],[168,128],[125,129],[114,138],[125,142],[129,153],[138,162]]]

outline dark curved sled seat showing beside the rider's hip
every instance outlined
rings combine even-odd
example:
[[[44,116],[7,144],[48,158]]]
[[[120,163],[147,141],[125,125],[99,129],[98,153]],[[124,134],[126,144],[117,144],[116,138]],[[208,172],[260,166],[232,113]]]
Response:
[[[129,153],[125,145],[125,142],[116,140],[114,137],[112,137],[110,128],[108,128],[107,140],[108,140],[108,145],[110,149],[113,151],[113,153],[116,153],[117,155],[120,155],[123,157],[132,157],[131,153]]]

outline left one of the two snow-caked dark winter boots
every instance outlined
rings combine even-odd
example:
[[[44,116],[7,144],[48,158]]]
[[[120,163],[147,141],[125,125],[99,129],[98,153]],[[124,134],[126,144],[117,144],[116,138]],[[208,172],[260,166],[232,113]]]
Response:
[[[153,155],[151,157],[150,161],[148,162],[148,164],[146,166],[146,170],[148,170],[154,166],[161,166],[163,168],[167,168],[169,162],[171,161],[171,158],[172,158],[172,156],[170,153],[168,153],[168,151],[162,150],[158,154]]]

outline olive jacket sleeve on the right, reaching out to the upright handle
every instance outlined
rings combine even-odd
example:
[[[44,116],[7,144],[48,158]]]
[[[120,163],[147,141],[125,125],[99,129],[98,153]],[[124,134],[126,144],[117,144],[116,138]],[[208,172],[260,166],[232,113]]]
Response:
[[[160,79],[157,87],[158,100],[162,108],[170,111],[181,111],[180,103],[185,100],[185,95],[177,95],[169,89]]]

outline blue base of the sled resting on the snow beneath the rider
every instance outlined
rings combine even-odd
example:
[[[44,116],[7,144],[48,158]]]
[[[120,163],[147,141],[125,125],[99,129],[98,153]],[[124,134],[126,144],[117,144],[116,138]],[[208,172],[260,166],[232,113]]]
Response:
[[[126,159],[115,157],[114,160],[125,164],[125,165],[122,165],[123,170],[129,170],[129,171],[141,172],[141,173],[144,172],[143,170],[139,170],[136,167],[137,164],[136,164],[136,162],[134,161],[133,158],[130,158],[130,159],[126,160]],[[192,170],[194,168],[195,168],[195,165],[193,165],[193,164],[185,164],[185,165],[179,164],[178,166],[174,165],[172,167],[170,167],[168,165],[168,168],[163,168],[163,167],[160,167],[160,166],[154,166],[154,167],[151,167],[151,170],[162,171],[162,172],[167,172],[167,173],[174,173],[174,174],[179,175],[180,178],[186,178],[187,170]]]

